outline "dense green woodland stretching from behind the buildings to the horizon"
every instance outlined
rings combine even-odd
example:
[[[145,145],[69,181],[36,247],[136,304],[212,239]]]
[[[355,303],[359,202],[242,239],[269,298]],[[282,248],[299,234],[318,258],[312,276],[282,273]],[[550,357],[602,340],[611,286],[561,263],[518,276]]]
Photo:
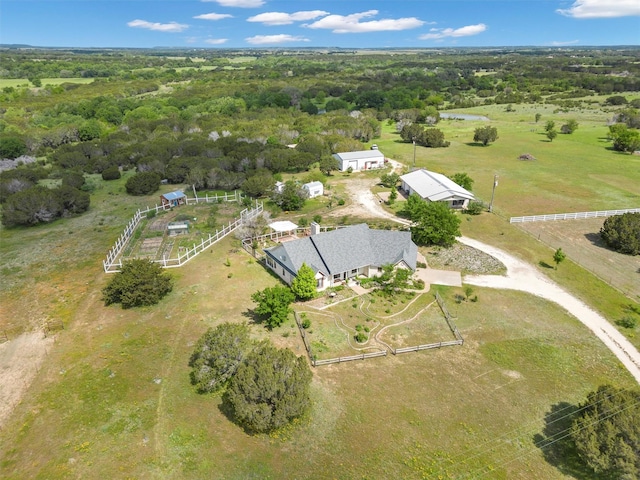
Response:
[[[562,110],[602,103],[590,97],[605,95],[621,122],[612,130],[614,148],[640,148],[640,105],[620,94],[640,91],[638,49],[401,53],[0,50],[0,156],[38,159],[0,174],[3,223],[83,211],[84,198],[78,206],[66,191],[41,218],[15,212],[27,189],[39,199],[32,210],[40,211],[51,199],[33,189],[38,180],[69,171],[108,179],[117,178],[114,170],[135,169],[260,197],[284,172],[319,165],[329,174],[332,153],[362,149],[383,122],[395,122],[406,142],[446,147],[439,111],[477,105]],[[87,78],[94,80],[79,83]]]

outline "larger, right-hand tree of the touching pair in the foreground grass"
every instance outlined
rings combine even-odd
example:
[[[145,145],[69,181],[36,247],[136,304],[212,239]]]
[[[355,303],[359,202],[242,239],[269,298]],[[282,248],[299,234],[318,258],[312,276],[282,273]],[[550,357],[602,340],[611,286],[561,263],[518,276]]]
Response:
[[[303,357],[264,342],[238,367],[223,401],[247,431],[270,432],[307,412],[311,377]]]

